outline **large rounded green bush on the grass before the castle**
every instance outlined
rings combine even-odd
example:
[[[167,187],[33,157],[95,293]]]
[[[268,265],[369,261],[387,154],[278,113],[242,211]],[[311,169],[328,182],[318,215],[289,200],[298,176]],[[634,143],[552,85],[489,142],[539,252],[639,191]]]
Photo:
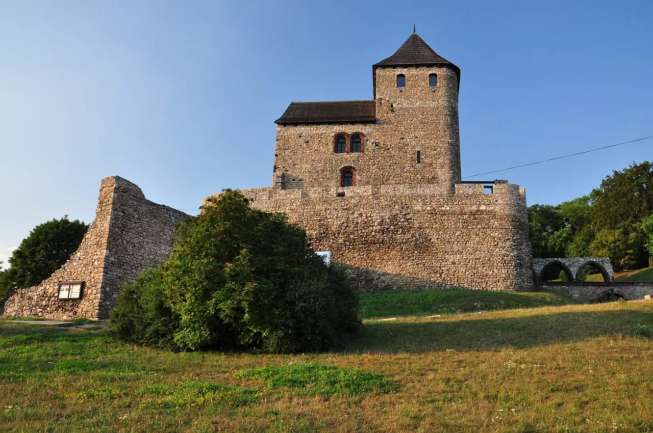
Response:
[[[112,323],[148,346],[267,352],[328,350],[360,327],[343,269],[325,265],[285,215],[231,190],[178,228],[160,271],[125,287]]]

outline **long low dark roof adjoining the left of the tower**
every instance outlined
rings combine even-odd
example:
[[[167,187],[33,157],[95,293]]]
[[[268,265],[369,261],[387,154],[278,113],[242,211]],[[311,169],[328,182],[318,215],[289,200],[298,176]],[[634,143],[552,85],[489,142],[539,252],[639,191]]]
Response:
[[[274,121],[279,125],[298,123],[362,123],[376,120],[374,100],[336,100],[328,102],[291,102],[285,113]]]

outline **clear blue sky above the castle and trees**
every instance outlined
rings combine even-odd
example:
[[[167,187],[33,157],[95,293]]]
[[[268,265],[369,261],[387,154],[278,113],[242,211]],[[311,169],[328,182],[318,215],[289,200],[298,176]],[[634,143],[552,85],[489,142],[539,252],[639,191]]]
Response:
[[[462,70],[463,175],[653,135],[651,1],[0,3],[0,260],[100,180],[197,209],[272,181],[294,100],[372,98],[412,32]],[[653,140],[484,176],[560,203]],[[5,262],[5,265],[7,263]]]

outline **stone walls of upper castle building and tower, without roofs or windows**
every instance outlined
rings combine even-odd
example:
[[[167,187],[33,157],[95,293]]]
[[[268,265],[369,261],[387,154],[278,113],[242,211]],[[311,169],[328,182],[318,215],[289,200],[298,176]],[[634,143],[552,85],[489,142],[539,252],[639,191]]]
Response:
[[[436,87],[428,86],[431,73],[438,74]],[[406,75],[406,87],[396,87],[397,74]],[[376,123],[278,125],[273,185],[336,188],[340,170],[347,166],[355,168],[358,186],[460,181],[455,72],[381,68],[375,77]],[[341,133],[361,134],[362,152],[335,153],[335,138]],[[280,174],[283,179],[277,177]]]

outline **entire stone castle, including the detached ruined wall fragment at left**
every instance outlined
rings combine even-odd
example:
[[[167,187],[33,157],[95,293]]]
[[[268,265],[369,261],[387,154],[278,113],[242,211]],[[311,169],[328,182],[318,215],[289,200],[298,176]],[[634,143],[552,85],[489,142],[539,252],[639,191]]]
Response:
[[[524,188],[460,179],[460,69],[413,33],[372,77],[372,100],[290,104],[272,186],[242,190],[251,205],[286,213],[358,290],[532,288]],[[82,245],[12,293],[5,316],[106,318],[123,282],[165,261],[187,217],[103,179]]]

